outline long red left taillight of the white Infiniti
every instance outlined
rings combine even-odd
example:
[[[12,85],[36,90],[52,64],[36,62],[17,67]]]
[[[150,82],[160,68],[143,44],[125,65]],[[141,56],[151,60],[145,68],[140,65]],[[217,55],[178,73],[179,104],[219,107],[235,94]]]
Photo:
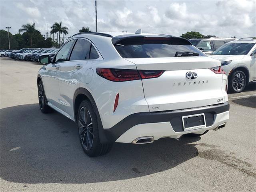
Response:
[[[139,79],[157,78],[161,76],[164,71],[96,68],[96,73],[107,80],[114,82],[123,82]]]

